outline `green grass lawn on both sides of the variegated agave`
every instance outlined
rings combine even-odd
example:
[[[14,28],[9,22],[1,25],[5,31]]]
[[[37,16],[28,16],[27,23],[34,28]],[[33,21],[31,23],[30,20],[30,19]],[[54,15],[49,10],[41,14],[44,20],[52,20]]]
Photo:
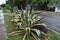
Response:
[[[10,16],[4,15],[4,18],[5,18],[5,26],[7,29],[7,33],[9,34],[12,31],[14,31],[15,27],[11,23]],[[49,37],[50,37],[50,40],[60,40],[60,36],[58,34],[55,34],[52,31],[49,31]],[[22,40],[22,35],[17,35],[17,36],[8,35],[8,40]]]

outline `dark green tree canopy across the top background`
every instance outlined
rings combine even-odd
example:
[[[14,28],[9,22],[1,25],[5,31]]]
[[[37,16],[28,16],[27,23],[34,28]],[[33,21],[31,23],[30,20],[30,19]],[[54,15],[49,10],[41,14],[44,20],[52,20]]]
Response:
[[[25,9],[27,4],[34,5],[35,3],[38,3],[39,8],[44,10],[47,8],[48,4],[56,4],[57,2],[60,2],[60,0],[8,0],[7,3],[11,5],[11,11],[13,11],[13,6],[17,6],[18,9],[21,9],[22,6],[22,8]]]

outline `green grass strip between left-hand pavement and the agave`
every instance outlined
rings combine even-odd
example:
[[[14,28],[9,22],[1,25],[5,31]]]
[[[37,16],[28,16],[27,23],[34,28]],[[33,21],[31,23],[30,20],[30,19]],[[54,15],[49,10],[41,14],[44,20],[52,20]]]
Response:
[[[20,40],[21,39],[20,36],[9,35],[12,31],[14,31],[14,25],[11,23],[11,17],[5,15],[4,18],[5,18],[5,26],[8,33],[8,40]]]

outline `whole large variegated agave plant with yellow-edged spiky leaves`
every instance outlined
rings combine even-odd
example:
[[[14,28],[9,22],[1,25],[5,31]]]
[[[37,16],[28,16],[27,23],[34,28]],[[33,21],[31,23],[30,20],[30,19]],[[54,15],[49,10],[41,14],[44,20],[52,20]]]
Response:
[[[41,34],[48,35],[47,25],[41,23],[36,24],[41,17],[32,10],[21,10],[15,15],[12,21],[18,26],[19,30],[10,33],[10,35],[23,35],[22,40],[26,40],[27,36],[33,37],[34,40],[41,40]],[[28,39],[30,40],[30,39]]]

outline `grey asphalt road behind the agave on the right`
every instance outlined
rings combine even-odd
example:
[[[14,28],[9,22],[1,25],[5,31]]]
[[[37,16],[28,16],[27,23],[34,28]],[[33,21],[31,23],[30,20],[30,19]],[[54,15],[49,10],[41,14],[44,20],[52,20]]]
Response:
[[[60,16],[44,15],[44,14],[42,14],[41,16],[43,16],[43,17],[45,16],[42,21],[45,24],[47,24],[49,28],[51,28],[51,29],[60,33]]]

